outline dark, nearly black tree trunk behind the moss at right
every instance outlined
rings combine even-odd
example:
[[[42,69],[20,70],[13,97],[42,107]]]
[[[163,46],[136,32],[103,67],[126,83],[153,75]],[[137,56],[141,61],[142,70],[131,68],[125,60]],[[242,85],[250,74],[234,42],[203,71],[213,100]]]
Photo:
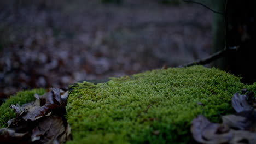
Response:
[[[220,5],[219,7],[223,7]],[[213,65],[232,74],[240,75],[242,82],[253,83],[256,75],[253,71],[256,63],[256,1],[227,0],[226,15],[214,20],[214,50],[225,46],[239,46],[237,51],[229,52]],[[224,21],[226,18],[226,21]],[[225,23],[226,22],[226,23]],[[224,27],[223,27],[224,26]],[[225,30],[226,29],[226,30]],[[226,34],[225,34],[226,32]]]

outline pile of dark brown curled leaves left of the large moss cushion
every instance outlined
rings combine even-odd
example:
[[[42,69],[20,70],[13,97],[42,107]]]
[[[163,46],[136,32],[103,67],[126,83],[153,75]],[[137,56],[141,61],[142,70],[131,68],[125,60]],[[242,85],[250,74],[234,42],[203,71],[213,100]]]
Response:
[[[0,129],[0,143],[64,143],[71,139],[71,127],[64,117],[68,91],[51,88],[34,97],[31,103],[10,106],[16,117]]]

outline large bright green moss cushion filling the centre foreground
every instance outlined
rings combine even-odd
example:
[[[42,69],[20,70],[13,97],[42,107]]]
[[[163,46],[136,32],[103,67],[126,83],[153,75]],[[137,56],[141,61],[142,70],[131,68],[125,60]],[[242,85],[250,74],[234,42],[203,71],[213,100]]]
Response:
[[[77,83],[66,107],[68,143],[194,143],[190,125],[197,115],[220,122],[220,115],[234,112],[232,95],[255,86],[202,66]]]

